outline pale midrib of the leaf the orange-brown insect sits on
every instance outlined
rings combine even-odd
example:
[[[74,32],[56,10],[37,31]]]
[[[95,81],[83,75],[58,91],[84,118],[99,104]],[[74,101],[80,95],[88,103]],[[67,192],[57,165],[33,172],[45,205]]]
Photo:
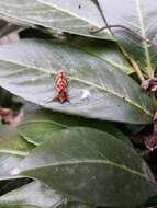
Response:
[[[9,61],[9,60],[4,60],[4,59],[2,59],[2,60],[0,59],[0,61],[10,62],[10,63],[13,63],[13,65],[21,66],[21,63],[18,63],[18,62],[15,62],[15,61]],[[34,70],[40,70],[40,71],[42,71],[42,72],[44,72],[44,73],[48,73],[48,74],[56,76],[56,72],[46,71],[46,70],[43,70],[42,68],[35,68],[34,66],[29,66],[29,65],[22,65],[22,66],[23,66],[24,68],[31,68],[31,69],[34,69]],[[114,96],[116,96],[116,97],[119,97],[119,99],[121,99],[121,100],[127,102],[130,105],[133,105],[133,106],[137,107],[138,109],[141,109],[142,112],[144,112],[144,113],[145,113],[146,115],[148,115],[149,117],[153,117],[153,114],[152,114],[149,111],[147,111],[146,108],[144,108],[142,105],[139,105],[139,104],[133,102],[132,100],[126,99],[125,95],[121,95],[121,94],[116,93],[115,91],[112,91],[112,90],[106,89],[106,88],[104,88],[104,86],[100,86],[100,85],[98,85],[98,84],[94,84],[94,83],[92,83],[92,82],[89,82],[89,81],[86,81],[86,80],[82,80],[82,79],[79,79],[79,78],[75,78],[75,77],[72,77],[72,76],[68,76],[67,78],[69,78],[69,80],[74,80],[74,81],[83,83],[83,84],[86,84],[86,85],[89,85],[89,86],[93,86],[93,88],[96,88],[96,89],[99,89],[99,90],[101,90],[101,91],[103,91],[103,92],[106,92],[106,93],[109,93],[109,94],[112,94],[112,95],[114,95]]]

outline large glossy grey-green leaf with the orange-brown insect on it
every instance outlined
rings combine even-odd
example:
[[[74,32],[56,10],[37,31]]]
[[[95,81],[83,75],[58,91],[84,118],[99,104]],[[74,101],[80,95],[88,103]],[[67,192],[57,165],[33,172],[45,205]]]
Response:
[[[60,69],[69,82],[70,102],[64,104],[48,102]],[[154,112],[152,100],[125,73],[66,44],[34,39],[1,47],[0,85],[44,107],[90,118],[147,124]]]

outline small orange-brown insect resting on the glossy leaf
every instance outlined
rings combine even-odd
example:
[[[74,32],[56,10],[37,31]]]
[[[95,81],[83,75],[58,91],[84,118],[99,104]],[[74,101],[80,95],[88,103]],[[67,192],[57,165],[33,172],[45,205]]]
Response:
[[[55,80],[55,89],[57,91],[57,95],[53,99],[53,101],[59,101],[61,103],[69,102],[68,96],[68,82],[66,72],[64,70],[59,70],[57,72],[57,77]]]

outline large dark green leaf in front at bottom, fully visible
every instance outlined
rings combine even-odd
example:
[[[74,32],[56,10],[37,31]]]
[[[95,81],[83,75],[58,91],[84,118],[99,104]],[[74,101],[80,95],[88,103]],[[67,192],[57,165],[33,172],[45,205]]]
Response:
[[[153,175],[125,142],[91,128],[69,128],[35,148],[19,166],[76,200],[135,207],[156,190]]]

